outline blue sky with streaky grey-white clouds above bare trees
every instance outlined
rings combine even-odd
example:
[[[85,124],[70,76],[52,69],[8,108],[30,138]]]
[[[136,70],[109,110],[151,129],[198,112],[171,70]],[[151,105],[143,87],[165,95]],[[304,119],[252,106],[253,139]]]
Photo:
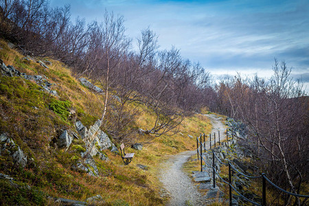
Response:
[[[101,21],[104,10],[124,16],[126,34],[150,26],[160,49],[172,45],[216,77],[240,72],[269,77],[274,58],[293,67],[309,91],[308,0],[51,0],[71,5],[71,17]]]

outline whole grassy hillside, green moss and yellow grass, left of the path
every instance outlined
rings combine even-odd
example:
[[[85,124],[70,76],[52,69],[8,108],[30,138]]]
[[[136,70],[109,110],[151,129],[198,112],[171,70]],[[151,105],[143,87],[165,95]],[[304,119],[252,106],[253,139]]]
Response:
[[[74,139],[68,149],[59,149],[55,139],[64,129],[76,131],[77,120],[85,126],[94,124],[102,112],[102,97],[83,87],[70,69],[56,60],[25,58],[10,49],[5,41],[0,41],[0,47],[0,58],[5,65],[12,65],[27,75],[42,76],[58,93],[51,95],[32,80],[0,77],[0,134],[8,135],[28,160],[25,168],[21,168],[14,164],[10,154],[1,153],[0,173],[14,179],[0,179],[0,199],[4,205],[54,204],[47,196],[85,201],[98,194],[102,196],[102,205],[165,203],[156,175],[158,165],[166,155],[194,150],[196,140],[188,135],[196,137],[199,133],[209,133],[211,125],[207,117],[199,114],[188,117],[179,127],[181,133],[156,137],[141,151],[128,148],[127,152],[135,152],[130,165],[124,165],[120,155],[106,150],[109,161],[94,157],[99,176],[76,172],[71,166],[82,158],[83,141]],[[49,69],[37,60],[51,62]],[[155,121],[148,108],[135,106],[140,115],[133,119],[130,129],[143,128]],[[142,142],[151,138],[138,135],[135,139]],[[112,141],[116,146],[122,143]],[[138,164],[146,165],[146,170],[141,170]]]

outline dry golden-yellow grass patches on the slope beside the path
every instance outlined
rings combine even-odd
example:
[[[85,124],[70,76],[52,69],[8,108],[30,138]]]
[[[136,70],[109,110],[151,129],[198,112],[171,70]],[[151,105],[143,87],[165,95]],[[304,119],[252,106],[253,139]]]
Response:
[[[30,75],[46,76],[49,82],[53,83],[52,89],[59,94],[59,100],[69,100],[72,102],[72,109],[79,111],[82,122],[90,126],[95,118],[100,117],[102,112],[102,100],[100,95],[94,95],[89,89],[82,87],[80,82],[73,78],[69,68],[61,62],[50,58],[52,65],[45,69],[35,61],[24,60],[23,56],[10,49],[5,41],[0,41],[0,58],[5,65],[13,65],[21,72]],[[91,100],[91,101],[89,101]],[[140,112],[135,119],[135,126],[146,128],[154,124],[155,116],[146,106],[132,103]],[[73,124],[63,125],[73,129]],[[104,128],[103,128],[104,129]],[[87,174],[74,172],[69,165],[74,151],[69,148],[65,150],[52,150],[45,146],[47,154],[39,155],[37,161],[49,161],[54,163],[55,170],[50,170],[47,165],[40,168],[39,171],[27,170],[29,174],[39,176],[42,184],[40,190],[50,196],[60,196],[63,198],[72,198],[84,201],[90,196],[100,194],[106,204],[128,203],[130,205],[164,205],[166,199],[160,196],[161,183],[157,178],[157,168],[159,163],[166,158],[166,155],[173,155],[185,150],[195,150],[196,138],[200,133],[209,133],[211,124],[209,119],[201,114],[195,114],[187,117],[179,126],[179,132],[176,135],[161,135],[152,138],[150,135],[138,135],[135,141],[144,142],[152,139],[149,144],[145,144],[143,150],[137,151],[132,148],[126,148],[127,152],[135,152],[135,157],[129,165],[124,165],[121,157],[112,152],[106,151],[109,161],[102,161],[95,158],[100,177],[91,177]],[[190,138],[192,135],[194,138]],[[44,159],[46,158],[46,159]],[[148,170],[141,170],[137,164],[146,165]],[[52,168],[52,167],[51,167]],[[51,172],[51,175],[60,175],[59,183],[52,179],[46,179],[44,172]],[[60,172],[60,174],[58,174]],[[29,180],[29,185],[36,185]],[[124,201],[124,202],[122,202]]]

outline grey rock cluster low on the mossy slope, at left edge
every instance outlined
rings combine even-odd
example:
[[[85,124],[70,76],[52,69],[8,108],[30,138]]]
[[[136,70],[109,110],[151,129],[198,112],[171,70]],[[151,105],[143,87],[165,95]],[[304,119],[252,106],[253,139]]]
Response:
[[[23,150],[5,134],[0,135],[0,143],[0,155],[4,152],[7,153],[12,157],[16,165],[21,165],[22,168],[25,168],[27,156],[23,153]]]

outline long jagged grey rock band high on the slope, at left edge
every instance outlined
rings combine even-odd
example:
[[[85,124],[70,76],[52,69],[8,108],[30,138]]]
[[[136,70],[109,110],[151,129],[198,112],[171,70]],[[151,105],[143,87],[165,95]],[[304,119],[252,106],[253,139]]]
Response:
[[[57,91],[51,89],[53,84],[48,82],[45,76],[43,77],[39,75],[27,75],[25,73],[21,73],[20,71],[15,69],[12,65],[6,66],[1,59],[0,59],[0,71],[1,75],[3,76],[9,76],[9,77],[19,76],[21,78],[24,78],[25,80],[32,80],[36,82],[36,84],[40,85],[44,91],[52,95],[58,96]]]

